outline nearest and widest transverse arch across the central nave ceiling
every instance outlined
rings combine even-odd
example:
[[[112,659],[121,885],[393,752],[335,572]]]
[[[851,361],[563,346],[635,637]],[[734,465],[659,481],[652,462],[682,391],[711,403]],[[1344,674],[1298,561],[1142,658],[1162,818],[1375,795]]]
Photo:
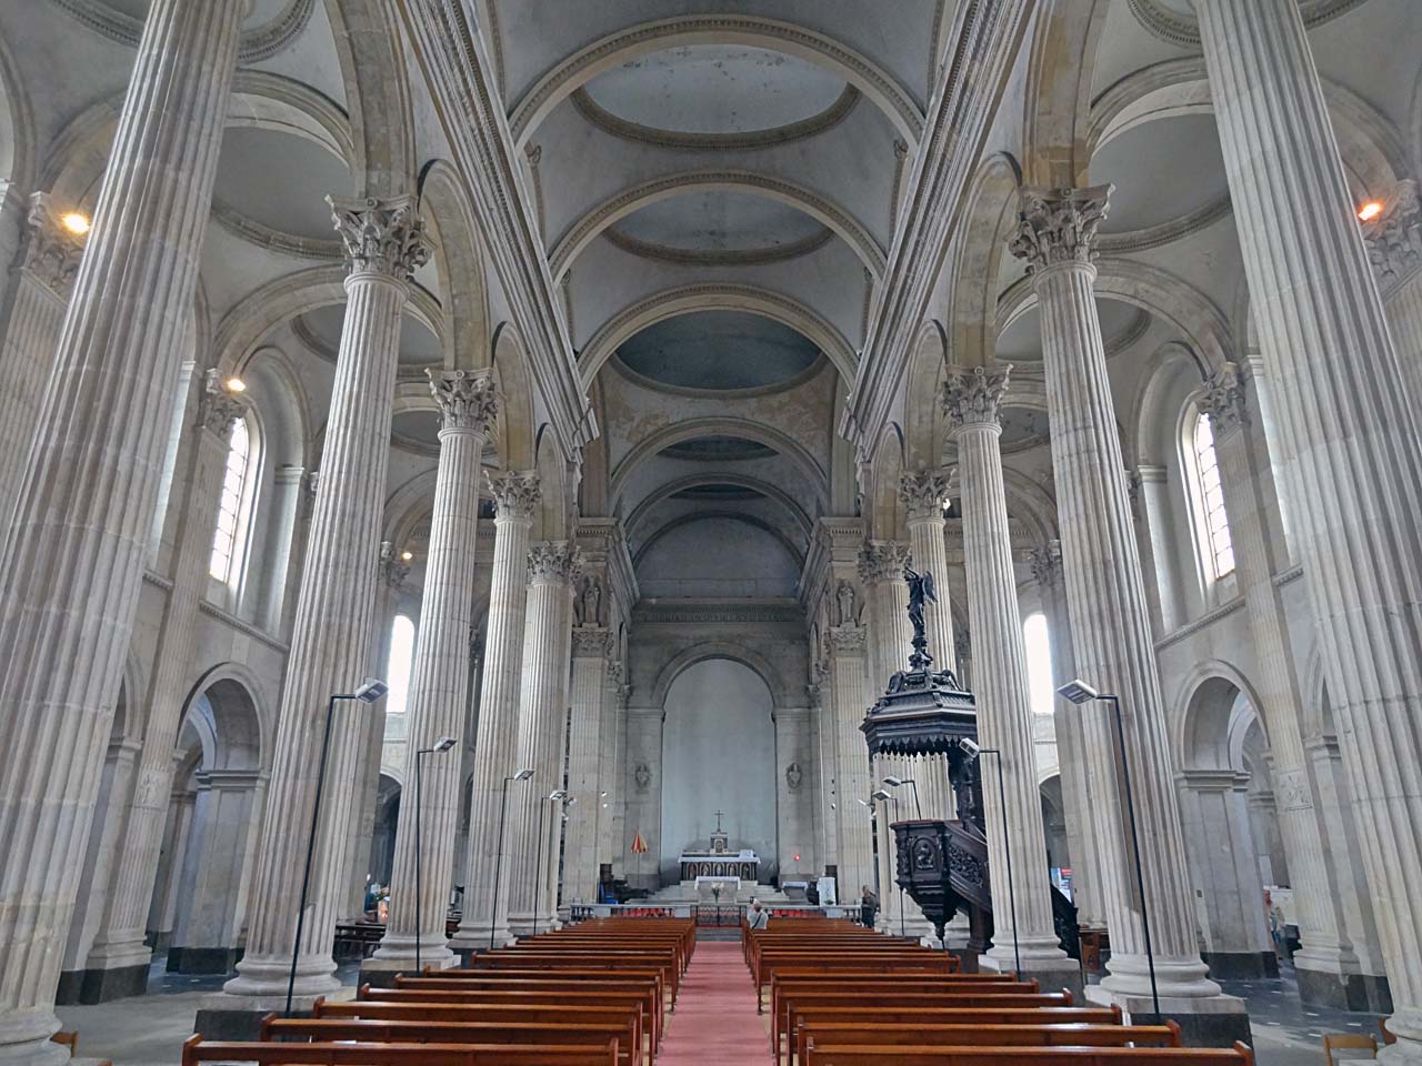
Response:
[[[923,135],[923,111],[887,71],[849,45],[795,23],[758,16],[684,16],[617,30],[573,53],[513,105],[509,126],[523,148],[563,99],[606,70],[688,44],[744,44],[825,67],[870,99],[910,145]]]

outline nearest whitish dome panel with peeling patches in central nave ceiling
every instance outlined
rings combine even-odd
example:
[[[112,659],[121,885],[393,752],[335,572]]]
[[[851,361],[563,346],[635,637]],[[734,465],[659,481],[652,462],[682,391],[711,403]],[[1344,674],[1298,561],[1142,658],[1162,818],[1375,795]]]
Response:
[[[791,126],[839,102],[839,75],[766,48],[687,44],[638,55],[584,87],[623,122],[671,134],[754,134]]]

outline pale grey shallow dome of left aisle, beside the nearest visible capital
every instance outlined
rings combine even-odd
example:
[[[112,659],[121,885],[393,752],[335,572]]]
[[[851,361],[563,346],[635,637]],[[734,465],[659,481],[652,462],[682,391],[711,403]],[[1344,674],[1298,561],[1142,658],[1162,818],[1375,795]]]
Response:
[[[222,138],[213,198],[267,229],[334,240],[326,196],[350,188],[344,161],[306,138],[246,126]]]

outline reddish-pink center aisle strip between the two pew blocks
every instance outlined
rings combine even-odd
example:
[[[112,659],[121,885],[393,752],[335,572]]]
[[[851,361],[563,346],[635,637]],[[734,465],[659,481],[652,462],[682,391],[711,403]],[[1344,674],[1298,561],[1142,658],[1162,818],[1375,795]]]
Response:
[[[661,1045],[657,1066],[771,1062],[769,1038],[755,1013],[751,972],[738,942],[697,944]]]

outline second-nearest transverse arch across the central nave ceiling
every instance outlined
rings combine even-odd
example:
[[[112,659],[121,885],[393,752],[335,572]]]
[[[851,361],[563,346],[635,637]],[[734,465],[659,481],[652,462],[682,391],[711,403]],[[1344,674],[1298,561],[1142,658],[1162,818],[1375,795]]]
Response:
[[[583,249],[619,219],[651,203],[698,192],[742,192],[795,208],[832,229],[876,279],[883,277],[884,250],[848,209],[803,185],[755,171],[673,173],[614,193],[573,222],[553,244],[547,257],[553,277],[563,277]]]

